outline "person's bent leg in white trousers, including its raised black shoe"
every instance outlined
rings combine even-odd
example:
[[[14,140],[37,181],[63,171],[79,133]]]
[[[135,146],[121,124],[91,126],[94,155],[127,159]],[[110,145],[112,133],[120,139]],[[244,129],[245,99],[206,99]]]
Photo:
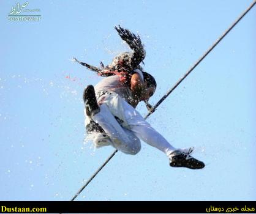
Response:
[[[102,95],[104,96],[102,97]],[[97,100],[92,85],[87,86],[83,92],[86,116],[85,127],[88,137],[94,137],[93,142],[96,147],[111,144],[124,153],[135,155],[140,151],[140,140],[131,131],[121,127],[118,123],[118,121],[121,121],[111,114],[110,109],[105,104],[108,102],[118,104],[117,96],[112,96],[111,92],[104,92],[102,95],[99,95],[98,99],[100,99]]]

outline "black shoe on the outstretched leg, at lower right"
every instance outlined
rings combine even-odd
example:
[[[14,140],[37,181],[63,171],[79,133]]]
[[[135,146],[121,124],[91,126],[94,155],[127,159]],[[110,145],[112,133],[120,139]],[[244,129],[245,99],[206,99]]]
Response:
[[[175,150],[170,154],[170,166],[172,167],[185,167],[189,169],[203,169],[205,164],[202,161],[195,159],[189,154],[193,148],[188,150]]]

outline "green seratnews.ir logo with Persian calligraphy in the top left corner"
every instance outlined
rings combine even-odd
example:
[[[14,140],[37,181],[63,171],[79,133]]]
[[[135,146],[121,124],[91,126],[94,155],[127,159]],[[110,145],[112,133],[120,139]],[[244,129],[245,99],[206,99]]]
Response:
[[[26,1],[24,4],[19,2],[12,6],[10,13],[8,14],[9,21],[40,21],[41,15],[40,9],[28,9],[29,2]]]

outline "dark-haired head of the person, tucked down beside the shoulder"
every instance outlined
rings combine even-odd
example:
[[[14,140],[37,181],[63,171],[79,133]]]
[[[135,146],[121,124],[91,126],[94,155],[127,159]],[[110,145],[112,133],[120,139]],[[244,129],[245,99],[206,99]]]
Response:
[[[146,72],[143,73],[144,82],[146,84],[145,89],[143,90],[143,93],[141,94],[142,100],[148,100],[154,92],[156,91],[156,80],[152,75]]]

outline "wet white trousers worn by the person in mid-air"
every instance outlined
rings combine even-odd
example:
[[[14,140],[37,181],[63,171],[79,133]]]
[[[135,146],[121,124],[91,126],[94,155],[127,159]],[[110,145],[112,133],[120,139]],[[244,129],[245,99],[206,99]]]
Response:
[[[107,138],[103,138],[105,143],[101,144],[111,146],[121,152],[135,155],[141,149],[140,139],[145,141],[150,146],[170,155],[176,150],[168,141],[160,135],[146,120],[127,103],[118,94],[105,95],[99,98],[100,112],[92,116],[92,119],[103,128],[107,134]],[[115,117],[119,118],[119,122]],[[88,124],[89,119],[86,118],[85,124]],[[121,124],[121,125],[120,125]],[[98,133],[98,135],[100,135]],[[96,147],[99,143],[99,138],[94,138]],[[101,138],[102,141],[102,138]]]

